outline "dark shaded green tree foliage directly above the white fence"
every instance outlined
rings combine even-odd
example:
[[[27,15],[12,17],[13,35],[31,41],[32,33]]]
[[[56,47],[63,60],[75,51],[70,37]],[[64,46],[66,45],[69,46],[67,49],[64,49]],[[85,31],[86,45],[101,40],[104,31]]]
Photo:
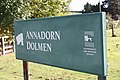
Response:
[[[0,34],[13,35],[13,22],[18,15],[19,5],[19,0],[0,0]]]

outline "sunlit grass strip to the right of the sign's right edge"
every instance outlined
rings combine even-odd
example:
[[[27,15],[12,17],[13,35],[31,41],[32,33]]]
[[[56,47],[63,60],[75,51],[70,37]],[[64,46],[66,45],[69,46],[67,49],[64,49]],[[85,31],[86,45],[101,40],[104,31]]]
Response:
[[[111,31],[108,30],[108,80],[120,80],[120,29],[115,29],[115,35],[117,37],[111,37],[111,34]],[[119,44],[118,47],[117,44]]]

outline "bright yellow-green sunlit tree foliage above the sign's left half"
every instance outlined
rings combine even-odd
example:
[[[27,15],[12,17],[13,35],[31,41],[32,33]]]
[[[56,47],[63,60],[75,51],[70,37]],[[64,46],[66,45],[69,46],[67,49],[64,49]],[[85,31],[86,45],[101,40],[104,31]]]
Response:
[[[48,16],[60,16],[69,11],[71,0],[27,0],[21,8],[20,18],[40,18]]]

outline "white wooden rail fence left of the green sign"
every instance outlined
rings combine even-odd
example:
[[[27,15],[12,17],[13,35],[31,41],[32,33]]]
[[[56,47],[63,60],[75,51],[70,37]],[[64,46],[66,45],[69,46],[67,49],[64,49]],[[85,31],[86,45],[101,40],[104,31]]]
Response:
[[[0,55],[14,52],[14,42],[9,41],[9,36],[0,37]]]

